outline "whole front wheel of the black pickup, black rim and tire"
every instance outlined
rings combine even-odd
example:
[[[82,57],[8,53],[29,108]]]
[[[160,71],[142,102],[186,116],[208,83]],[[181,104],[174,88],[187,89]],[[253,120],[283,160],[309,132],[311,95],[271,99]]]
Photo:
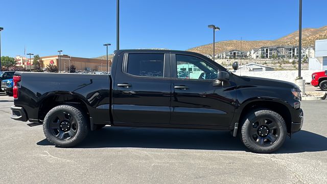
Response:
[[[241,129],[241,140],[252,152],[271,153],[285,142],[286,123],[281,115],[266,109],[247,114]]]

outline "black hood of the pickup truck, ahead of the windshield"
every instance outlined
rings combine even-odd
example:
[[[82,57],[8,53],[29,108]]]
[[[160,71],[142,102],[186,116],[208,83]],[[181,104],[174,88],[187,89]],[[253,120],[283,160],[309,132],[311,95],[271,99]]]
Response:
[[[285,87],[285,88],[299,88],[298,85],[292,82],[286,82],[281,80],[260,78],[260,77],[248,77],[239,76],[244,83],[243,85],[260,85],[260,86],[271,86],[271,87]],[[242,85],[241,84],[241,85]]]

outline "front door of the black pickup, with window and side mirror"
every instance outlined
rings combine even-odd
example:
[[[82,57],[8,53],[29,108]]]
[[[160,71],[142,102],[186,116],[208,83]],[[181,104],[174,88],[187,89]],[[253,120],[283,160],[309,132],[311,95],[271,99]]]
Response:
[[[235,83],[214,86],[219,68],[198,55],[172,54],[172,124],[227,127],[235,110]],[[235,88],[234,88],[235,89]]]

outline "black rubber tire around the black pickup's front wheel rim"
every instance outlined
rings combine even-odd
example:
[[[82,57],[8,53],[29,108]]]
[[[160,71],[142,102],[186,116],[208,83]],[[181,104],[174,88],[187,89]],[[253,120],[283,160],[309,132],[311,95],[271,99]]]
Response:
[[[260,124],[259,121],[262,119],[264,119],[264,122],[266,122],[266,119],[274,121],[275,129],[267,130],[267,132],[270,132],[270,131],[279,132],[278,136],[276,136],[277,138],[275,139],[274,143],[269,143],[269,142],[272,142],[272,141],[270,141],[270,139],[268,140],[268,136],[270,138],[270,133],[268,133],[268,136],[265,135],[266,137],[260,137],[259,132],[258,132],[258,140],[263,139],[264,140],[263,143],[267,144],[265,146],[264,146],[264,144],[262,146],[260,146],[258,140],[254,141],[253,136],[255,137],[255,135],[251,135],[252,133],[250,133],[250,132],[254,131],[253,126],[255,126],[255,124]],[[272,125],[269,124],[268,126],[272,126]],[[268,128],[268,126],[267,126],[267,128]],[[258,127],[257,131],[259,131],[259,129],[260,128]],[[287,135],[286,123],[280,114],[278,114],[272,110],[269,110],[269,109],[256,109],[256,110],[250,111],[245,116],[243,123],[242,123],[242,127],[241,127],[240,138],[241,138],[241,141],[243,142],[243,144],[252,152],[271,153],[271,152],[278,150],[284,144],[286,135]]]

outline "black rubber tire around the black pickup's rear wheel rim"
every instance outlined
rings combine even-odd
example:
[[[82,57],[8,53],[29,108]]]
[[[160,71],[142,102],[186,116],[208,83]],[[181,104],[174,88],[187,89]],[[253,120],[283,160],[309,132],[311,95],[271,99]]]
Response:
[[[74,124],[76,124],[76,133],[74,136],[72,136],[71,139],[68,140],[61,140],[58,137],[56,137],[53,133],[55,131],[55,128],[50,128],[51,121],[53,122],[53,119],[56,114],[59,114],[61,112],[67,113],[69,116],[72,116],[75,119]],[[58,121],[59,122],[59,121]],[[73,127],[72,127],[73,128]],[[59,128],[58,128],[59,131]],[[43,121],[43,132],[46,137],[46,139],[58,146],[58,147],[73,147],[77,144],[81,143],[86,135],[89,132],[89,123],[86,120],[86,114],[83,113],[82,110],[79,110],[76,107],[70,106],[70,105],[59,105],[54,108],[52,108],[45,116]],[[67,133],[67,132],[66,132]]]

